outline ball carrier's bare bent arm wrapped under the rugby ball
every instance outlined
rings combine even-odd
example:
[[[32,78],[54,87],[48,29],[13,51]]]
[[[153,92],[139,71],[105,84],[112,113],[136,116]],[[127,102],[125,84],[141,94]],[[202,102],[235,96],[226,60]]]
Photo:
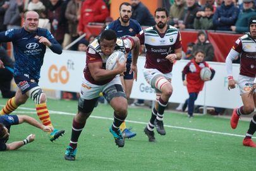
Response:
[[[90,69],[90,73],[92,74],[92,78],[95,81],[107,80],[109,78],[113,78],[117,74],[121,74],[126,70],[126,62],[123,64],[116,62],[117,67],[113,70],[102,69],[102,62],[93,62],[88,63],[88,68]]]

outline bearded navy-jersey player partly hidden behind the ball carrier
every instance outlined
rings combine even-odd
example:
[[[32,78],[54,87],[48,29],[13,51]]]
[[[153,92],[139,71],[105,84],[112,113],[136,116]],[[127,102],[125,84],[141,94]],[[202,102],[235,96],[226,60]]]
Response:
[[[131,19],[131,4],[130,3],[121,3],[119,6],[119,18],[118,20],[115,20],[109,25],[107,25],[107,29],[114,30],[116,32],[117,37],[125,37],[125,36],[135,36],[142,28],[140,27],[140,24],[138,21]],[[120,76],[123,88],[125,90],[125,95],[127,100],[129,100],[131,95],[131,88],[133,86],[133,72],[130,72],[131,70],[131,52],[127,56],[126,61],[126,71],[123,74],[123,76]],[[123,133],[123,136],[125,138],[132,138],[133,136],[136,136],[136,133],[133,133],[130,131],[130,129],[126,128],[125,122],[121,124],[120,129]]]

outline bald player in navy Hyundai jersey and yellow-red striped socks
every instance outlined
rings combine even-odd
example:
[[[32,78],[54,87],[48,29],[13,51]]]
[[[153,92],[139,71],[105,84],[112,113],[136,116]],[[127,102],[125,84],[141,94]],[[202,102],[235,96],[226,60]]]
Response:
[[[30,97],[35,102],[37,115],[42,124],[52,126],[46,106],[46,94],[38,82],[46,46],[56,54],[62,53],[62,47],[48,30],[38,28],[39,15],[35,11],[25,13],[24,20],[24,27],[0,33],[0,43],[13,43],[14,79],[18,86],[15,97],[8,100],[0,114],[10,114]],[[64,130],[54,129],[50,133],[50,140],[54,141],[62,134]]]

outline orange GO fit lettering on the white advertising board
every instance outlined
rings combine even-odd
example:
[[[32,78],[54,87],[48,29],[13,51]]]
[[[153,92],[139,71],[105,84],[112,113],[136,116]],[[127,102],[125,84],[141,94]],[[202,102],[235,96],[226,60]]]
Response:
[[[70,69],[74,70],[74,62],[71,60],[68,60],[67,66],[61,66],[61,68],[52,64],[48,70],[48,78],[50,82],[61,82],[63,84],[68,83],[68,80],[70,79],[70,72],[68,70]]]

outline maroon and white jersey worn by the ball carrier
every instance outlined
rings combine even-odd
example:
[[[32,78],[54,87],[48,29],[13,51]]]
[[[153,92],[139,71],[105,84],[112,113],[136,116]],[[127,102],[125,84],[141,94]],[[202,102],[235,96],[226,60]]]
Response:
[[[118,38],[118,40],[116,40],[116,47],[114,48],[114,51],[121,51],[127,54],[133,49],[133,44],[134,41],[131,37]],[[106,69],[106,61],[108,57],[109,56],[104,55],[101,50],[101,45],[99,44],[99,37],[95,38],[94,41],[90,45],[88,45],[86,51],[86,66],[85,69],[83,69],[83,75],[85,76],[85,79],[87,81],[94,85],[105,85],[106,83],[109,83],[113,80],[115,76],[104,81],[95,81],[94,78],[92,78],[90,69],[88,68],[88,63],[102,62],[102,69]]]

